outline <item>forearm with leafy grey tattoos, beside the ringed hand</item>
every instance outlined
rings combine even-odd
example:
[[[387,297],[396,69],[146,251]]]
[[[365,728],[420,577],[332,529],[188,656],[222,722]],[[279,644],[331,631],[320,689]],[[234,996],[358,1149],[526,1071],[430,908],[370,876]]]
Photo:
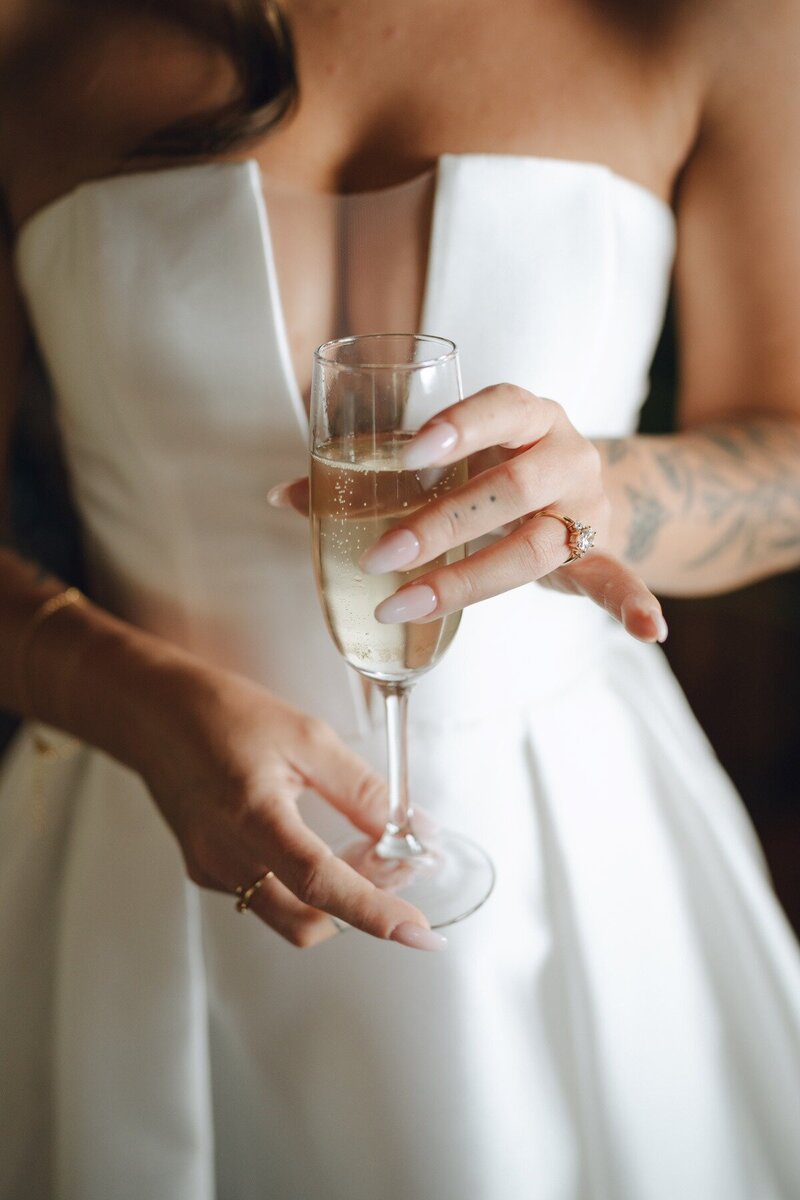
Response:
[[[800,563],[800,421],[742,418],[597,445],[613,552],[654,590],[724,592]]]

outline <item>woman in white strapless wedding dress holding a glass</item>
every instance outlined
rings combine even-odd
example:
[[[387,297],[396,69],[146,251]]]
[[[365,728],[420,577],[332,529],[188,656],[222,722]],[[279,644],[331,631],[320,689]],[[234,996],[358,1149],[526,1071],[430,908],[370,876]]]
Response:
[[[29,320],[95,602],[2,554],[0,701],[44,726],[0,799],[0,1194],[788,1200],[796,948],[642,643],[650,588],[800,557],[800,22],[300,0],[289,113],[275,6],[142,7],[4,17],[4,427]],[[643,438],[675,232],[681,431]],[[433,956],[321,838],[379,828],[380,731],[267,504],[309,348],[414,323],[462,348],[415,455],[473,456],[467,520],[372,566],[507,532],[384,612],[469,610],[411,736],[499,882]]]

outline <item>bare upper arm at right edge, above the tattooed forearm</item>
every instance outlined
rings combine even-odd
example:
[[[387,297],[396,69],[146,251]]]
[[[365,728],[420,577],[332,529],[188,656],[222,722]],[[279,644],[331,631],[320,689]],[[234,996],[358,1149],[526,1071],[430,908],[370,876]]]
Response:
[[[704,94],[678,188],[686,410],[796,413],[800,0],[697,8]]]

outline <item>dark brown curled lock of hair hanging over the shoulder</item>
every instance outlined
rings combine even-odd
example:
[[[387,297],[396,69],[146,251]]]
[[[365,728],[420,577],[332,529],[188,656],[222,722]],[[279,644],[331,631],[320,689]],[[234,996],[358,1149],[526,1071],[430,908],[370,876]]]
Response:
[[[137,157],[218,154],[261,137],[296,103],[294,46],[279,0],[148,0],[148,7],[222,46],[240,89],[224,108],[158,131]]]

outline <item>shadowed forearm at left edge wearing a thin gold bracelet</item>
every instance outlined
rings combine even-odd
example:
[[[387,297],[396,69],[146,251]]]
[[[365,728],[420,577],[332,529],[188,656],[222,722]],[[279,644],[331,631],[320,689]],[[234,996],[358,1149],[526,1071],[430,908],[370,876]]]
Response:
[[[152,740],[148,714],[157,680],[190,672],[192,659],[88,602],[60,608],[34,628],[41,606],[64,588],[0,550],[0,708],[140,770]]]

